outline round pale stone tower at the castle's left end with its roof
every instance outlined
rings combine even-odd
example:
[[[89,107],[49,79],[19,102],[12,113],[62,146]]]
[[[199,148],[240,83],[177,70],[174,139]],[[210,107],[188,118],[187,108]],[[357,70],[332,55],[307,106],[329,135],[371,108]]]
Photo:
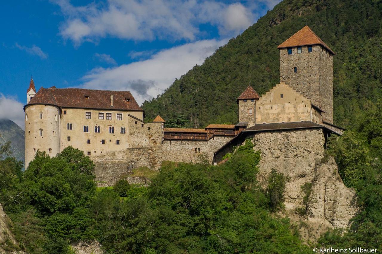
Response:
[[[24,106],[25,111],[25,168],[34,159],[37,150],[49,156],[60,152],[59,113],[49,91],[39,92]]]

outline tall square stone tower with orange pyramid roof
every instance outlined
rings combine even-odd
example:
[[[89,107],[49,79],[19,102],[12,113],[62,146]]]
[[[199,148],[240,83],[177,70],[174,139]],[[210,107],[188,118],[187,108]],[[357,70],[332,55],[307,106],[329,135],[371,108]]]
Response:
[[[308,97],[333,123],[333,56],[335,53],[306,25],[277,47],[280,82]]]

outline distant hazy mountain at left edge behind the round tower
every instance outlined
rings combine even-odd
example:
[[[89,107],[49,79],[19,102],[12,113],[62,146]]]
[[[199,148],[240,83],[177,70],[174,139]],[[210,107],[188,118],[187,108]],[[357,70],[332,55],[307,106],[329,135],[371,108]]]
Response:
[[[11,120],[0,119],[0,145],[7,141],[11,141],[12,156],[15,156],[20,161],[24,161],[24,130]]]

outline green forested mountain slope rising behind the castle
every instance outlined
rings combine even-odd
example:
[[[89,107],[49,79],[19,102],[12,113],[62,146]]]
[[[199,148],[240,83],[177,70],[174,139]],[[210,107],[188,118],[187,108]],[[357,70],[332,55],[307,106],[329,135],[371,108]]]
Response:
[[[382,1],[284,0],[220,47],[158,98],[145,101],[147,121],[184,116],[188,127],[236,123],[236,98],[248,86],[263,94],[279,81],[277,46],[305,22],[332,48],[334,123],[348,126],[382,96]]]

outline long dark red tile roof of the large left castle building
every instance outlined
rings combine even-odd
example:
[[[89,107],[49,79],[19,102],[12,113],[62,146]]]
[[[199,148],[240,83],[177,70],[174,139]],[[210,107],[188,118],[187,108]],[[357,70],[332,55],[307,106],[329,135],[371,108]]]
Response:
[[[110,103],[111,95],[113,95],[113,106]],[[62,108],[143,111],[129,91],[41,87],[27,105],[30,104],[51,104]]]

